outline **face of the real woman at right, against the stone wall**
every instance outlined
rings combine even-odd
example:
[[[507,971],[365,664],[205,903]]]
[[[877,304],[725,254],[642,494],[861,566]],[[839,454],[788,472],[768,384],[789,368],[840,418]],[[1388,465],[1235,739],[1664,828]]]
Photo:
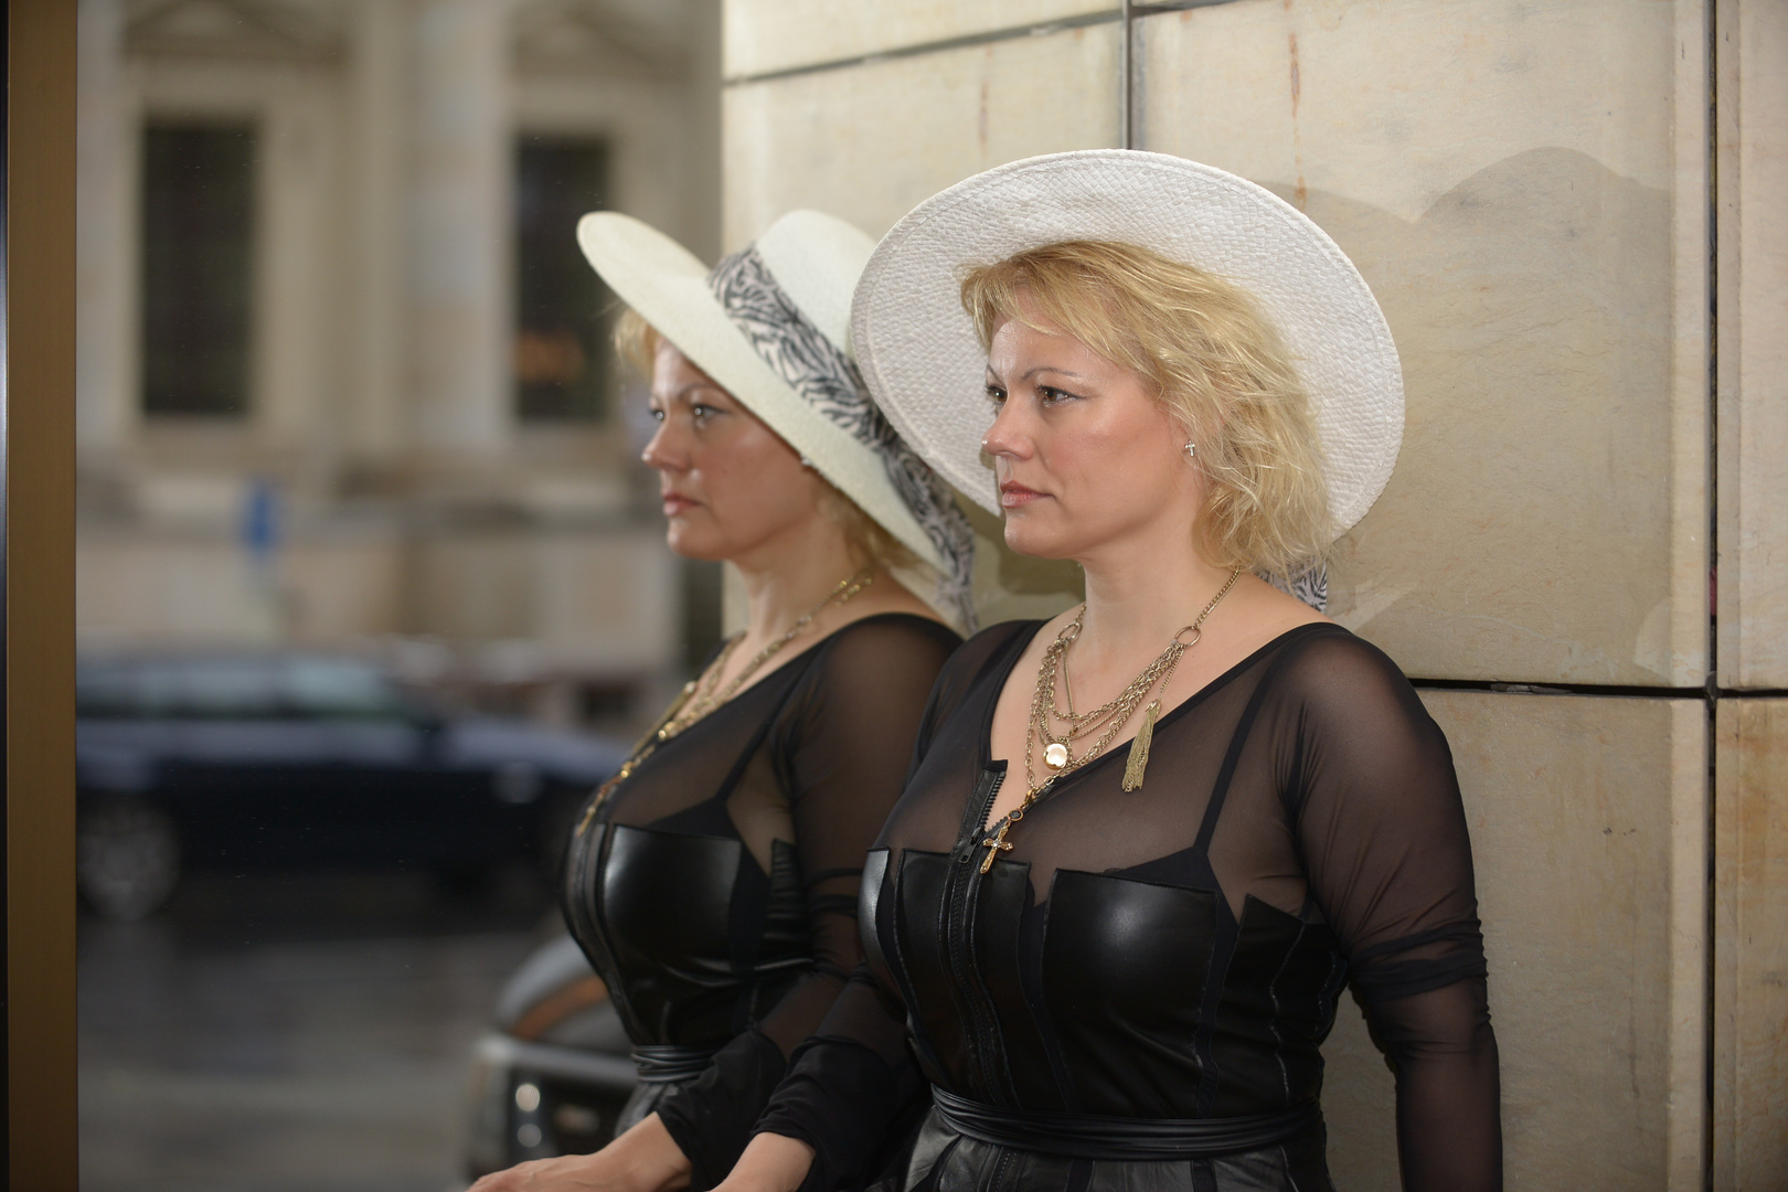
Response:
[[[1141,377],[1066,332],[1008,318],[987,352],[987,395],[999,411],[985,450],[1008,547],[1085,561],[1159,534],[1191,541],[1198,470]]]

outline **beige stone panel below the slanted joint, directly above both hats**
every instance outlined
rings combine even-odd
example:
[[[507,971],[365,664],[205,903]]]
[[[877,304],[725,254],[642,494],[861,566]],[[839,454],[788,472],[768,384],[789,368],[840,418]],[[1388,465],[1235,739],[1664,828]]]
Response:
[[[880,236],[971,173],[1118,139],[1116,25],[735,84],[726,247],[794,207]]]

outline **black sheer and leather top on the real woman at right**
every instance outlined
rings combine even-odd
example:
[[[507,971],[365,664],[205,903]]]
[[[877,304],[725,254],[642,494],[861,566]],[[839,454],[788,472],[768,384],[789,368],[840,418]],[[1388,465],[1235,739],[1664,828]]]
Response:
[[[860,1178],[923,1078],[1025,1112],[1314,1106],[1348,981],[1396,1072],[1405,1188],[1500,1187],[1472,847],[1446,740],[1396,667],[1332,624],[1275,638],[1160,718],[1141,790],[1119,786],[1123,747],[1057,779],[982,876],[992,709],[1035,633],[994,625],[939,676],[864,881],[867,963],[758,1126],[814,1146],[806,1187]],[[1320,1126],[1146,1178],[998,1151],[921,1135],[912,1181],[1330,1187]]]

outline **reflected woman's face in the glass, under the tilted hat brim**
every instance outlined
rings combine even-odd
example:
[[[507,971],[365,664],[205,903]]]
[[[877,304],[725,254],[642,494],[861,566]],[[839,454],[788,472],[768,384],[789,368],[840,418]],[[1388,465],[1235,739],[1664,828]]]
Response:
[[[653,359],[658,431],[642,459],[658,472],[670,549],[738,559],[819,513],[819,479],[789,443],[670,341]]]

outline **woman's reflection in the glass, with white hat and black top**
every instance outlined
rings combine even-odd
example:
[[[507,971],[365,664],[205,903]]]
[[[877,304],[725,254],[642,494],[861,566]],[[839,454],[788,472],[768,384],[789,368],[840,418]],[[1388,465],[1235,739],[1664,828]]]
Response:
[[[651,366],[670,547],[728,559],[726,642],[583,808],[565,917],[635,1042],[640,1090],[592,1156],[485,1188],[712,1187],[862,947],[864,854],[899,795],[926,695],[967,620],[949,490],[869,404],[844,350],[873,241],[797,211],[712,273],[637,220],[579,243]]]

